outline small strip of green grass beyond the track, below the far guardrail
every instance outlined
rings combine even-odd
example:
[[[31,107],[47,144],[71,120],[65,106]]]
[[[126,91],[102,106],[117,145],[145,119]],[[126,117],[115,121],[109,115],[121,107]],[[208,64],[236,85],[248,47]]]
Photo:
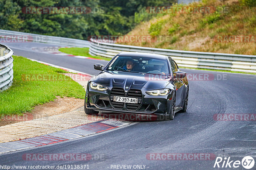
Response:
[[[91,58],[101,59],[101,60],[110,61],[112,59],[112,58],[108,58],[108,57],[92,56],[89,54],[89,48],[77,48],[77,47],[60,48],[59,51],[61,51],[63,53],[67,53],[67,54],[81,55],[81,56],[91,57]]]

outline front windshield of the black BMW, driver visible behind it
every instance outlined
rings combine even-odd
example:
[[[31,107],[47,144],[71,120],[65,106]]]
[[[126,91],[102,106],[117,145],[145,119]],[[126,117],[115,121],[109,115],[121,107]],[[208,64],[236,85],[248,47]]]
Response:
[[[116,56],[106,70],[169,75],[167,60],[151,57]]]

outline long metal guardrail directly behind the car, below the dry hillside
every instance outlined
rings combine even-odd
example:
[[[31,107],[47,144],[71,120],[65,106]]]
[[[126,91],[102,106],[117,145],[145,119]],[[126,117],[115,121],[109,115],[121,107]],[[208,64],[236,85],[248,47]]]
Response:
[[[113,58],[121,51],[156,53],[171,56],[180,67],[207,68],[217,70],[256,73],[256,56],[226,53],[169,50],[140,46],[127,46],[99,42],[91,39],[89,53],[93,56]]]

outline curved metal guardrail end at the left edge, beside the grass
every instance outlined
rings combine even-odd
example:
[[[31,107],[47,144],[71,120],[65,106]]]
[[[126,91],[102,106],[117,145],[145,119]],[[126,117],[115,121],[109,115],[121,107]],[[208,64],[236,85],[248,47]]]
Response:
[[[7,46],[0,45],[0,92],[12,85],[13,51]]]

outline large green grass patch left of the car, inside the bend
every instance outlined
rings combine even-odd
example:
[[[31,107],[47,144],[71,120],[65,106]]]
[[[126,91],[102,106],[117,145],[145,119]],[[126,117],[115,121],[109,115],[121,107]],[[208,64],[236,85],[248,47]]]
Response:
[[[0,92],[0,117],[31,111],[34,106],[53,101],[56,96],[84,99],[85,91],[77,82],[64,76],[64,70],[50,67],[24,57],[13,56],[12,86]],[[68,73],[68,72],[66,72]],[[52,74],[68,81],[35,81],[28,80],[26,74]],[[32,77],[32,76],[31,76]]]

